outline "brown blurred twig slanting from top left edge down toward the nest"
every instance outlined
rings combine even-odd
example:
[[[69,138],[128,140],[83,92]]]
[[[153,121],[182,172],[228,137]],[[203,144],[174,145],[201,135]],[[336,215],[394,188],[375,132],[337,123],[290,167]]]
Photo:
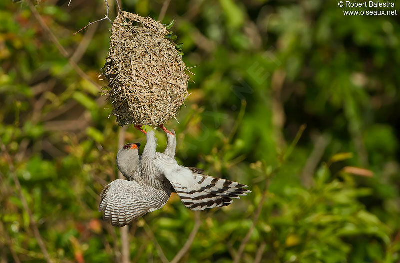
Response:
[[[71,58],[69,58],[69,54],[68,52],[65,50],[65,48],[60,44],[60,42],[58,41],[57,37],[54,35],[54,33],[50,30],[50,28],[46,25],[46,23],[44,22],[43,18],[41,17],[41,15],[39,14],[39,12],[36,10],[36,8],[34,7],[33,3],[28,0],[26,1],[27,4],[29,5],[29,9],[30,11],[33,13],[33,16],[36,18],[36,20],[39,22],[41,28],[44,30],[44,32],[46,32],[46,34],[48,35],[48,37],[51,39],[51,41],[54,43],[54,45],[57,47],[57,49],[59,50],[59,52],[65,57],[68,58],[68,62],[71,65],[71,67],[76,71],[76,73],[78,73],[78,75],[83,78],[86,79],[87,81],[89,81],[90,83],[92,83],[95,87],[97,87],[98,89],[101,89],[101,86],[98,85],[96,82],[94,82],[86,73],[83,72],[83,70],[76,64],[75,61],[73,61]]]

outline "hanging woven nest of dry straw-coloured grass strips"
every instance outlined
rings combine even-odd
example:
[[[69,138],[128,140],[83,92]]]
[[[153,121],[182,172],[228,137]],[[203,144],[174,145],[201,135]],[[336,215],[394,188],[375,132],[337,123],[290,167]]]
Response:
[[[168,30],[150,17],[120,12],[112,24],[104,75],[120,126],[160,125],[176,115],[189,76]]]

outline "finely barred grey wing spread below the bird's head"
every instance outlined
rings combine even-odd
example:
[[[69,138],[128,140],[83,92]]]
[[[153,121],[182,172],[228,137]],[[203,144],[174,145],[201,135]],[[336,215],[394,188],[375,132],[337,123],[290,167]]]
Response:
[[[164,190],[142,186],[134,180],[117,179],[101,192],[98,211],[104,211],[105,221],[111,219],[113,226],[122,227],[164,206],[169,195]]]

